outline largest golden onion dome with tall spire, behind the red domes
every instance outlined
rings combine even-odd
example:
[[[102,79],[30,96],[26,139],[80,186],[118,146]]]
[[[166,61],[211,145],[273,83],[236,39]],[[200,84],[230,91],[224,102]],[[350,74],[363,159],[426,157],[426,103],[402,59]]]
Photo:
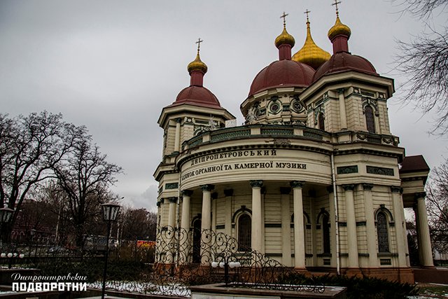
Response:
[[[318,69],[322,64],[330,60],[330,53],[319,48],[311,37],[309,21],[307,21],[307,39],[300,50],[293,55],[292,60],[308,64],[313,69]]]

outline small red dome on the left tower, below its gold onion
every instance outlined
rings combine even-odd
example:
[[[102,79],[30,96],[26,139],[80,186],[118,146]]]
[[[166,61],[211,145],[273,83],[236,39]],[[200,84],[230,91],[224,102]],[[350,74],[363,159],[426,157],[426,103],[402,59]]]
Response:
[[[173,105],[178,104],[221,107],[218,98],[216,98],[213,92],[203,86],[189,86],[181,90],[176,97],[176,102],[173,103]]]

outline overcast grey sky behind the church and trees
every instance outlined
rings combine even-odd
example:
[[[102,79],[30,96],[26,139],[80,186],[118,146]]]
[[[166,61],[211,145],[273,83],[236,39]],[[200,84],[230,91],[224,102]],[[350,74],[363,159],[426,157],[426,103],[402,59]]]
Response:
[[[400,0],[398,0],[400,1]],[[164,106],[189,85],[187,64],[198,38],[209,72],[204,86],[243,119],[239,104],[263,67],[278,58],[274,39],[283,11],[295,37],[311,33],[331,53],[327,32],[335,22],[331,0],[0,0],[0,112],[10,116],[43,110],[85,125],[102,152],[125,169],[113,188],[133,207],[155,208],[155,167],[162,158]],[[407,155],[423,154],[430,167],[448,156],[447,140],[427,134],[432,118],[398,104],[393,61],[396,39],[409,41],[421,22],[402,15],[389,0],[343,0],[340,17],[351,27],[349,50],[366,57],[379,74],[395,78],[389,99],[393,134]],[[428,22],[444,25],[446,13]]]

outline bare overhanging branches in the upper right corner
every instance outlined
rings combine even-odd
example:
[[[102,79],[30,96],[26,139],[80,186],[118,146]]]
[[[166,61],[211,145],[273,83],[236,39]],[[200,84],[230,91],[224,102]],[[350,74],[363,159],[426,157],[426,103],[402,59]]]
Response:
[[[435,111],[432,134],[448,132],[448,27],[437,31],[428,25],[428,18],[436,9],[446,9],[448,0],[402,0],[403,12],[420,18],[428,32],[414,36],[407,43],[398,41],[400,53],[396,57],[396,69],[408,77],[402,89],[403,104],[414,106],[428,113]]]

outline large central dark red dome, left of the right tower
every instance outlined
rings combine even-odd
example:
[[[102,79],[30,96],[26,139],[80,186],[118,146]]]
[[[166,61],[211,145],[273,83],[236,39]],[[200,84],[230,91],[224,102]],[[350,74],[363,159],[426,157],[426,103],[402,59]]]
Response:
[[[312,82],[314,69],[293,60],[277,60],[262,69],[253,79],[249,97],[256,92],[278,87],[307,87]]]

